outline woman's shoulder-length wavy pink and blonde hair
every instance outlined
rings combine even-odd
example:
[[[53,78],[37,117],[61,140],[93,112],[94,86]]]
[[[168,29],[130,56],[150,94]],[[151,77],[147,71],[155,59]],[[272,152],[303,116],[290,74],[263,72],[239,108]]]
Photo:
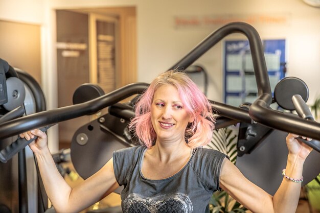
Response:
[[[211,104],[198,86],[178,70],[169,70],[151,82],[135,105],[135,117],[131,120],[129,129],[135,130],[142,145],[147,148],[154,145],[156,133],[151,123],[151,104],[155,90],[164,84],[177,88],[186,110],[194,117],[194,121],[187,126],[185,132],[188,146],[197,148],[207,145],[211,140],[215,122]]]

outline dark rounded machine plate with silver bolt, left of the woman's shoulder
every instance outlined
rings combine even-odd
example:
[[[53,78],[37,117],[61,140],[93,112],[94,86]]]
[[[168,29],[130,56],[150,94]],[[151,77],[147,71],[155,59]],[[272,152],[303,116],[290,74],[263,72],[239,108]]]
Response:
[[[130,147],[119,137],[103,129],[107,127],[116,135],[123,137],[123,129],[127,123],[121,123],[119,118],[109,114],[103,117],[104,124],[101,125],[98,120],[94,120],[80,127],[72,138],[71,160],[83,179],[100,170],[111,159],[113,151]],[[79,143],[79,135],[86,138],[85,143]]]

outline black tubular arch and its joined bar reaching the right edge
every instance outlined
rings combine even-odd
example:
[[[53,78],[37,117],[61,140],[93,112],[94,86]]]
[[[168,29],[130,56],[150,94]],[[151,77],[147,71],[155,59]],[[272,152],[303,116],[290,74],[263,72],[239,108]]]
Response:
[[[319,123],[305,120],[301,117],[290,115],[288,113],[282,113],[269,107],[272,102],[272,94],[268,70],[264,58],[263,45],[256,29],[247,23],[233,22],[218,29],[201,41],[197,46],[195,46],[194,49],[192,49],[184,58],[174,64],[170,69],[188,67],[222,38],[232,33],[242,33],[249,40],[259,94],[259,98],[252,105],[250,105],[250,118],[255,122],[271,128],[320,140]],[[225,109],[228,108],[228,105],[220,104],[219,107],[221,109]],[[239,112],[230,111],[230,114],[228,115],[221,115],[234,117],[239,115]]]

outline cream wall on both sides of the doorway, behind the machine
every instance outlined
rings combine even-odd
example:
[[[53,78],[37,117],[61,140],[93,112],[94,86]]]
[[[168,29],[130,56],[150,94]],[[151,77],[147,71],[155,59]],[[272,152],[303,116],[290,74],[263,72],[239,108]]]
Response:
[[[136,6],[138,80],[143,82],[150,82],[158,73],[170,68],[219,27],[175,29],[175,16],[285,16],[287,21],[283,25],[258,22],[254,27],[262,39],[287,39],[288,75],[307,83],[310,89],[308,103],[320,94],[320,8],[310,7],[302,0],[26,0],[24,6],[27,11],[18,10],[22,8],[19,0],[0,0],[0,18],[43,24],[43,73],[47,72],[44,76],[48,76],[45,92],[49,108],[54,108],[56,102],[54,9],[108,6]],[[228,38],[243,37],[235,34]],[[222,50],[220,42],[199,59],[210,73],[208,97],[216,101],[222,101]]]

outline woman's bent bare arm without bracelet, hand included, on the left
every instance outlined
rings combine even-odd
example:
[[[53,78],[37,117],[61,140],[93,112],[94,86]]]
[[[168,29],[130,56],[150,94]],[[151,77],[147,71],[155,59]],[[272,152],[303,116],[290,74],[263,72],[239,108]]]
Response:
[[[96,174],[71,188],[56,168],[47,146],[47,135],[40,130],[32,130],[20,136],[28,140],[38,136],[29,146],[37,158],[45,192],[57,212],[79,212],[101,200],[119,186],[113,172],[111,158]]]

